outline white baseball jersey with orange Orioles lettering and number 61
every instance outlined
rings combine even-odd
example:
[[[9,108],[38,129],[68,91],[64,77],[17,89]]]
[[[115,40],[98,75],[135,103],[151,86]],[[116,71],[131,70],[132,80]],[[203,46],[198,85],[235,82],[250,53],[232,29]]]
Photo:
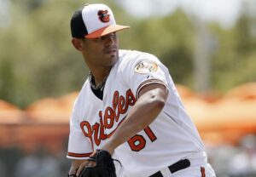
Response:
[[[204,145],[184,110],[168,69],[154,55],[119,50],[103,99],[93,94],[87,79],[75,101],[70,122],[67,157],[86,159],[101,148],[136,104],[137,93],[150,83],[166,85],[166,105],[153,123],[115,149],[118,177],[145,177],[176,163]],[[140,117],[137,117],[140,118]]]

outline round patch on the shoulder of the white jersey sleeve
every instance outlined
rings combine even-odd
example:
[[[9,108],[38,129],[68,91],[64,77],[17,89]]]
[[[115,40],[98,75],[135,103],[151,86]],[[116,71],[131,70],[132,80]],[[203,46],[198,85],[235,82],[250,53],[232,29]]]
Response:
[[[158,70],[158,65],[151,60],[141,61],[134,68],[134,71],[136,71],[139,74],[153,73],[157,70]]]

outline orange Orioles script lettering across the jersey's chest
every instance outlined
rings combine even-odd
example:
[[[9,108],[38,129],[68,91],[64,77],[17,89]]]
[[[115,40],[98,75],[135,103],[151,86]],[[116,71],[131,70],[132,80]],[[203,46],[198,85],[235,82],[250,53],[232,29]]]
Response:
[[[114,130],[125,117],[110,134],[106,134],[105,129],[113,128],[113,124],[118,123],[120,114],[125,114],[129,106],[134,106],[136,101],[136,97],[132,94],[131,89],[126,91],[125,97],[119,95],[119,91],[115,91],[113,93],[112,106],[108,106],[105,111],[103,111],[103,116],[102,111],[99,111],[100,123],[95,123],[94,125],[90,125],[87,121],[80,123],[80,128],[82,129],[84,136],[88,137],[91,142],[93,142],[94,139],[96,145],[99,146],[102,140],[106,140],[113,134]],[[93,145],[93,143],[91,144]]]

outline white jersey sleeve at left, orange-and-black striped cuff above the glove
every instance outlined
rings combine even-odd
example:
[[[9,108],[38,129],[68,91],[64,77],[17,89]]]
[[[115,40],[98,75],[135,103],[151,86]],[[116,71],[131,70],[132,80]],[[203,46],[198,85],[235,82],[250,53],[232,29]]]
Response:
[[[87,159],[92,153],[90,139],[84,137],[80,128],[79,117],[73,110],[70,118],[70,134],[68,139],[67,158]]]

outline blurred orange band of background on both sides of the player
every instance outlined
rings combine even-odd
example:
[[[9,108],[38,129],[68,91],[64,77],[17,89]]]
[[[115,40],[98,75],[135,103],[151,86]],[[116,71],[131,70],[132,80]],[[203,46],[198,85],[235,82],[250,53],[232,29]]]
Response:
[[[232,88],[222,96],[196,94],[183,85],[177,90],[205,143],[236,145],[242,136],[256,133],[256,83]],[[0,146],[19,145],[29,152],[40,144],[52,153],[61,151],[77,95],[44,98],[25,110],[0,100]]]

